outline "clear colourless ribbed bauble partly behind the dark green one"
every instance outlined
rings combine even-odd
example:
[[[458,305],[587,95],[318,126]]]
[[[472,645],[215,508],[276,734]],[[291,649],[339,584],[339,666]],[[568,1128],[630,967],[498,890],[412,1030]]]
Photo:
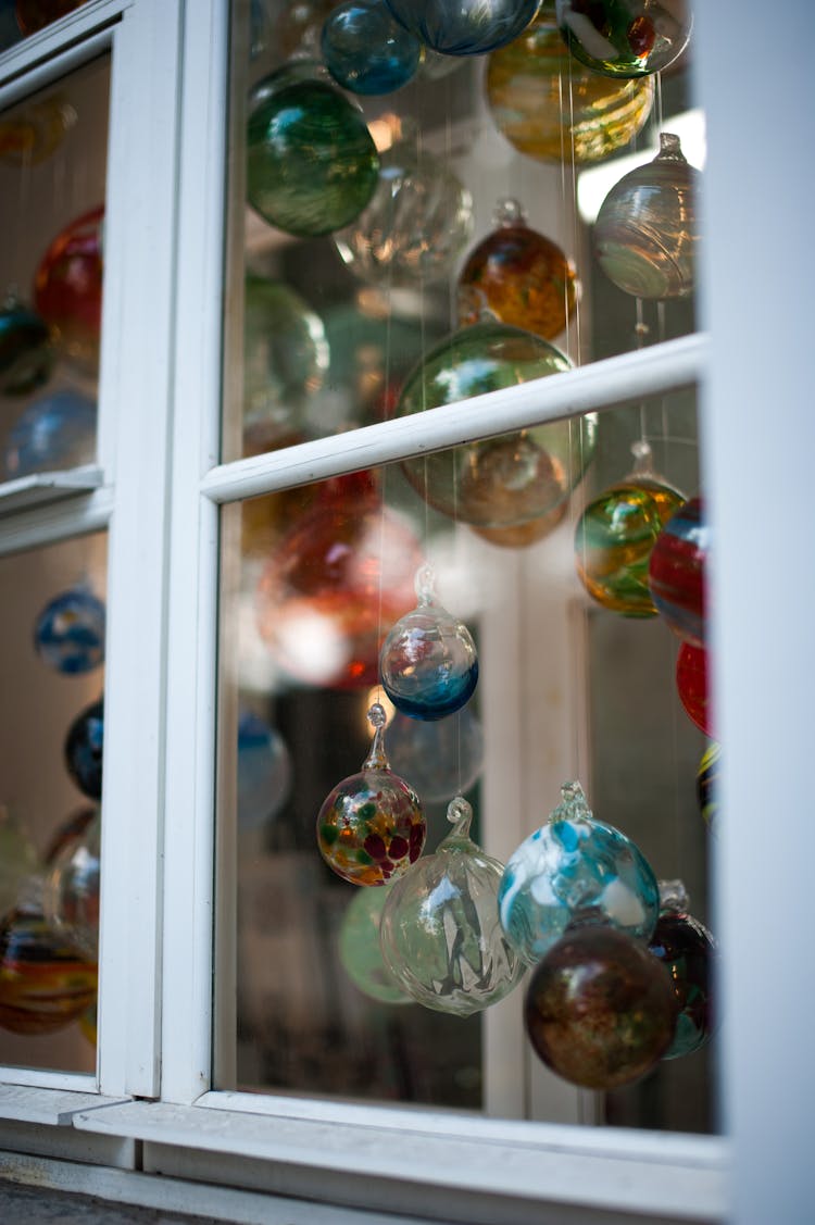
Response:
[[[382,153],[370,203],[336,241],[364,281],[414,288],[450,274],[472,229],[467,187],[444,162],[403,140]]]

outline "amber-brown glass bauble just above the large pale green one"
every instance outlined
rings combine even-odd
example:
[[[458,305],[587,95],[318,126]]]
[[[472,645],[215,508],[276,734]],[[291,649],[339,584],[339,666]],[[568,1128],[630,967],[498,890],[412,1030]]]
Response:
[[[553,341],[575,312],[580,283],[556,243],[529,229],[517,200],[501,200],[495,230],[469,252],[458,276],[458,323],[495,318]]]

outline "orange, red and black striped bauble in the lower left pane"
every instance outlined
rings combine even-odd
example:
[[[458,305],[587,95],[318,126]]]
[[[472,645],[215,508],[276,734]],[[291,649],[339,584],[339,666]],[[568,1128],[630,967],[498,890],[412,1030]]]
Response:
[[[0,1028],[53,1034],[76,1020],[97,993],[97,968],[47,922],[42,881],[0,922]]]

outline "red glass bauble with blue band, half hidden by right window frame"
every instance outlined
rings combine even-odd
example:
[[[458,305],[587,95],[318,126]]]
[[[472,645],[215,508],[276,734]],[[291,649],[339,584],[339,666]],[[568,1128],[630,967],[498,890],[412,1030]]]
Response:
[[[657,537],[648,562],[648,587],[659,615],[674,633],[705,646],[705,568],[710,528],[702,501],[691,497]]]

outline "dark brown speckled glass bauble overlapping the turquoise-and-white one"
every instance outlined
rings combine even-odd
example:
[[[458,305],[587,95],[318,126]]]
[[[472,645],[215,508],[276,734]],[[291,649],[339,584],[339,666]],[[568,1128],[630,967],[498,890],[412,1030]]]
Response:
[[[532,975],[525,1020],[553,1072],[583,1089],[615,1089],[663,1057],[677,1002],[645,944],[602,922],[577,922]]]

